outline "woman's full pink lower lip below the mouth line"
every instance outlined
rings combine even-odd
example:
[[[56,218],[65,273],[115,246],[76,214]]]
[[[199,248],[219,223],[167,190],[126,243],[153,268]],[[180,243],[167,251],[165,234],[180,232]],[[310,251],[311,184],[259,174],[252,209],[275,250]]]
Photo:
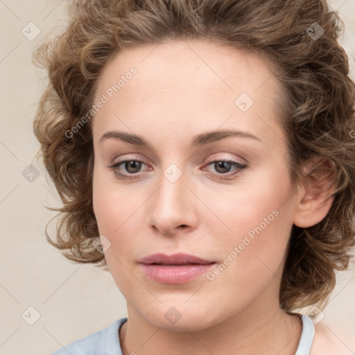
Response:
[[[184,284],[207,272],[215,263],[190,265],[141,264],[146,275],[162,284]]]

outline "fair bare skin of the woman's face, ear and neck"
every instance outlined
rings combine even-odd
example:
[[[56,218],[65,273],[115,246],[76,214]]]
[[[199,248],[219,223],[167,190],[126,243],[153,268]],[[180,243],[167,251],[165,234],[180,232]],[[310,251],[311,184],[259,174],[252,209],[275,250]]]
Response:
[[[128,307],[119,332],[123,354],[295,354],[302,323],[279,308],[278,296],[291,227],[320,222],[332,200],[324,203],[311,183],[293,189],[270,67],[258,55],[202,40],[140,45],[103,69],[95,102],[131,67],[137,74],[92,121],[93,208],[111,243],[107,266]],[[234,104],[241,93],[254,101],[246,112]],[[261,141],[228,137],[191,146],[195,135],[231,128]],[[153,150],[100,142],[109,130],[140,135]],[[131,180],[110,168],[124,159],[144,160],[138,173],[116,168]],[[211,162],[223,159],[248,167],[221,173]],[[164,176],[171,164],[182,173],[175,182]],[[278,216],[214,280],[160,284],[138,263],[155,252],[222,263],[275,209]],[[164,317],[171,307],[181,314],[175,324]],[[319,344],[312,355],[324,354]]]

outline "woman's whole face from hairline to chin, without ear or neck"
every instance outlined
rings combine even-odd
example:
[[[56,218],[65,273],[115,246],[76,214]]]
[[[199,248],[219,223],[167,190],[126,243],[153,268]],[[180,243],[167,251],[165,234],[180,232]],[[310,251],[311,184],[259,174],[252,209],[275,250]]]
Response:
[[[279,306],[296,195],[277,85],[259,56],[198,40],[125,49],[105,67],[94,212],[130,317],[198,330]],[[214,263],[140,262],[155,253]]]

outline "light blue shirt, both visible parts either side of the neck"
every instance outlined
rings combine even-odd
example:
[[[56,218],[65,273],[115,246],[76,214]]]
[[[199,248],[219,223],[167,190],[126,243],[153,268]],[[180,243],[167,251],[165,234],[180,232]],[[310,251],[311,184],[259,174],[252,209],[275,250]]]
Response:
[[[126,321],[127,318],[116,320],[105,329],[61,347],[53,355],[122,355],[119,328]],[[295,355],[309,355],[313,338],[313,322],[302,315],[302,334]]]

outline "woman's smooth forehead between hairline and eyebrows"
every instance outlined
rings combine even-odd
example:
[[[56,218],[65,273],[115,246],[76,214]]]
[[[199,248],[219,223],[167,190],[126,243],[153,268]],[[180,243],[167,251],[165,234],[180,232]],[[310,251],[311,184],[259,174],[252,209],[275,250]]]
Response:
[[[135,74],[128,75],[132,68]],[[181,132],[201,125],[216,130],[225,121],[229,126],[223,128],[236,123],[250,130],[257,123],[260,135],[270,134],[262,121],[272,116],[275,121],[278,90],[261,55],[216,42],[170,41],[123,49],[98,81],[95,101],[102,95],[108,101],[94,117],[94,140],[108,128],[127,130],[123,121],[141,132],[148,125],[170,131],[174,125]]]

